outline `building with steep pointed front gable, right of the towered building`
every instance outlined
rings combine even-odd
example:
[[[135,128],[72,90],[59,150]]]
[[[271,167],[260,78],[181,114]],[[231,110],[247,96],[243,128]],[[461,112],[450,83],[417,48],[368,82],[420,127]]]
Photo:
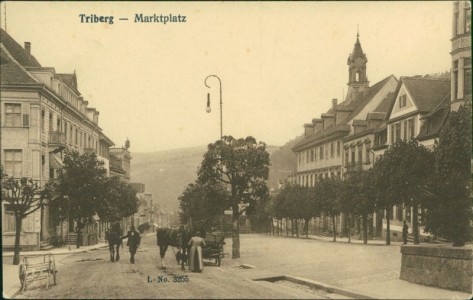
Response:
[[[398,140],[416,139],[419,144],[433,149],[450,111],[450,79],[401,77],[393,100],[386,122],[374,133],[373,161]],[[402,205],[393,206],[391,211],[389,216],[383,213],[383,235],[386,234],[385,218],[389,218],[391,240],[400,240],[402,222],[407,221],[412,228],[414,214],[411,207]]]

